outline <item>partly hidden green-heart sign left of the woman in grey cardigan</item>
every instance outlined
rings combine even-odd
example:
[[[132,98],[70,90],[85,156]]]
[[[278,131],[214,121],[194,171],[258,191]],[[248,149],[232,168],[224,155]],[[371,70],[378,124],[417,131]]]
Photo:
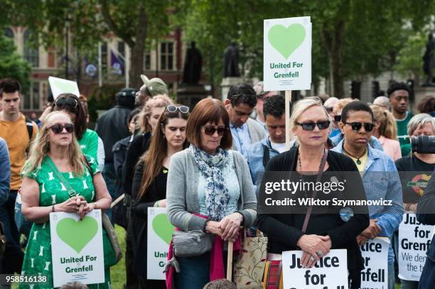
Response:
[[[165,280],[163,269],[168,260],[168,249],[175,227],[168,221],[166,208],[148,208],[148,249],[146,250],[146,277]]]

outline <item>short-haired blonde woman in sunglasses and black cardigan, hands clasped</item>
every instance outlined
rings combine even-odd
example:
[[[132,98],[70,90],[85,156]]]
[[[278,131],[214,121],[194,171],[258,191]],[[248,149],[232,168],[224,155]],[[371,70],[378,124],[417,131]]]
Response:
[[[358,171],[350,158],[325,148],[331,131],[331,116],[317,97],[306,97],[294,104],[290,129],[297,136],[299,146],[269,160],[266,172],[296,172],[292,175],[297,180],[314,182],[316,178],[320,178],[321,182],[325,182],[328,180],[323,172]],[[315,175],[307,174],[307,172],[313,172]],[[343,175],[343,173],[338,173],[338,175]],[[353,192],[344,190],[343,198],[365,200],[363,184],[358,174],[357,177],[359,182],[353,184]],[[298,190],[295,196],[304,198],[305,194],[306,197],[310,197],[311,193],[313,194],[313,192]],[[349,197],[350,194],[353,195],[352,198]],[[331,197],[322,192],[316,195],[326,200]],[[357,212],[352,206],[350,208]],[[347,249],[349,288],[360,288],[360,271],[364,266],[356,236],[368,226],[368,214],[355,213],[343,218],[340,217],[337,208],[333,208],[333,213],[328,212],[328,214],[318,211],[323,209],[318,207],[313,207],[312,214],[307,214],[308,207],[300,207],[300,209],[304,214],[296,214],[293,211],[286,214],[259,214],[258,229],[267,234],[268,253],[273,253],[268,256],[269,261],[280,261],[279,254],[282,251],[301,249],[304,251],[301,265],[311,268],[331,249]],[[367,208],[363,210],[366,212]],[[306,217],[308,223],[306,223]]]

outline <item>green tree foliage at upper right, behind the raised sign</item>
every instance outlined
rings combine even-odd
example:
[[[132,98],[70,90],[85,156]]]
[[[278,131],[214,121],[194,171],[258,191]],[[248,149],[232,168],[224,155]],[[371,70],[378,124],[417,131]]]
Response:
[[[222,53],[232,40],[240,45],[242,64],[250,65],[245,76],[262,79],[263,20],[311,16],[313,82],[326,77],[335,96],[343,97],[343,80],[392,70],[410,35],[404,27],[417,31],[434,7],[430,0],[184,0],[178,23],[186,40],[196,40],[206,53],[206,72],[213,67],[218,84]]]

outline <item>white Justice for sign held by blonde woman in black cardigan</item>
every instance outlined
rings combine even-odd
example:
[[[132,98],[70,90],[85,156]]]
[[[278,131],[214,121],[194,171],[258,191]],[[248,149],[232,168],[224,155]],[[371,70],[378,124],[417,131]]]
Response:
[[[303,251],[282,252],[286,289],[348,288],[348,256],[345,249],[331,250],[312,268],[302,268]]]

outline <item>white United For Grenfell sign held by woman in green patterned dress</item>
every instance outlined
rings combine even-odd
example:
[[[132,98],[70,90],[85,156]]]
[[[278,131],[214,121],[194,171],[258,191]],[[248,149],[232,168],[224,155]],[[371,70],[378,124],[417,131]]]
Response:
[[[53,285],[104,283],[101,210],[80,220],[75,213],[50,213]]]

